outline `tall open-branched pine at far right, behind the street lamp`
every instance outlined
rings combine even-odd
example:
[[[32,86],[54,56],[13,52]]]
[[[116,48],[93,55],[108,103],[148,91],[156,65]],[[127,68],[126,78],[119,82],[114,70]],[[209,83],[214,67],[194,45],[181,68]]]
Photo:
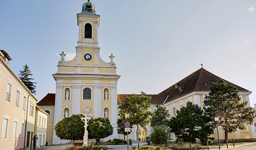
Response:
[[[241,102],[238,93],[233,84],[219,79],[217,83],[213,82],[209,96],[206,95],[204,99],[205,112],[212,120],[218,115],[218,124],[225,131],[225,140],[228,139],[228,132],[244,130],[245,124],[252,124],[255,118],[255,109],[247,107],[247,101]]]

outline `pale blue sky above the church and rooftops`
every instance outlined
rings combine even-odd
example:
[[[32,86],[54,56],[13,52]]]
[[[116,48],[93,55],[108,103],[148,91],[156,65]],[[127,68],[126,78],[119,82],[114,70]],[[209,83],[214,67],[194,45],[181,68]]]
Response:
[[[59,54],[75,56],[76,14],[86,0],[0,0],[0,49],[18,75],[27,64],[36,97],[55,93]],[[100,57],[114,54],[118,94],[158,94],[203,68],[252,91],[256,103],[255,0],[91,0]]]

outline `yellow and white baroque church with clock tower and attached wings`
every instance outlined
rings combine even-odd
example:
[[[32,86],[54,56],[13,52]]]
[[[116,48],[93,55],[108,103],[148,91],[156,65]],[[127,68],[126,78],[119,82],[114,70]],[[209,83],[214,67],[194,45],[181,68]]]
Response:
[[[123,135],[117,134],[118,105],[122,104],[130,94],[117,94],[117,82],[120,78],[116,74],[114,55],[109,56],[110,62],[104,62],[99,55],[98,28],[100,16],[95,12],[95,6],[89,0],[82,6],[82,12],[77,14],[77,25],[79,36],[76,49],[76,56],[65,61],[65,52],[60,53],[60,61],[57,66],[57,73],[53,74],[56,81],[56,93],[48,93],[38,105],[48,114],[46,140],[49,145],[67,143],[56,136],[54,126],[58,121],[73,114],[87,114],[88,117],[109,118],[114,128],[113,135],[104,139],[122,139]],[[148,94],[152,97],[150,111],[154,111],[156,104],[166,107],[171,116],[176,115],[176,110],[186,106],[188,101],[203,107],[205,95],[210,91],[212,82],[217,82],[220,77],[210,73],[201,67],[199,70],[176,82],[168,89],[159,94]],[[234,85],[239,90],[241,101],[247,101],[250,106],[249,96],[251,91]],[[220,131],[220,139],[224,139],[224,131]],[[217,133],[215,129],[215,133]],[[217,138],[216,134],[212,136]],[[129,138],[141,141],[150,135],[150,124],[140,127],[137,134],[137,127],[133,127]],[[243,139],[256,138],[254,125],[246,125],[245,130],[237,130],[230,133],[229,138]],[[175,138],[175,137],[173,137]]]

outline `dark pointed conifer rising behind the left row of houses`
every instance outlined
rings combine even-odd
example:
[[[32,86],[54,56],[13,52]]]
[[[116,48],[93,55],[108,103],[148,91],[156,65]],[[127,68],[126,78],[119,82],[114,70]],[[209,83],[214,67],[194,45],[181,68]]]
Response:
[[[23,70],[19,71],[19,79],[22,80],[22,82],[26,85],[26,87],[33,93],[35,94],[35,84],[37,84],[37,82],[32,82],[31,80],[33,80],[33,78],[30,78],[29,76],[32,76],[33,74],[31,73],[31,71],[29,70],[29,67],[27,64],[25,64],[23,66]]]

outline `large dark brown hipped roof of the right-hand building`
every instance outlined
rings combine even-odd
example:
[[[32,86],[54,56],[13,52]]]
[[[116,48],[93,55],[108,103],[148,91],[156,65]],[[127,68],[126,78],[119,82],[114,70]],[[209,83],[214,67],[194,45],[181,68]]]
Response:
[[[200,68],[196,72],[190,74],[176,84],[172,85],[168,89],[160,92],[159,95],[169,95],[166,101],[169,102],[192,91],[210,91],[212,82],[218,82],[219,79],[221,78],[203,68]],[[183,90],[180,92],[179,88],[175,88],[175,85],[182,87]],[[248,91],[237,85],[234,86],[237,87],[239,91]]]

